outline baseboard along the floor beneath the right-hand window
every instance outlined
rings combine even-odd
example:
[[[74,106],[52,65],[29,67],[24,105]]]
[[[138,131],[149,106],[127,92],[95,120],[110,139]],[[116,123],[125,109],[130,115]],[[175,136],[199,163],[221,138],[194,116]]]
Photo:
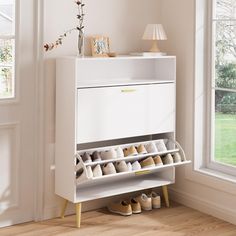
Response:
[[[236,225],[236,210],[217,205],[174,188],[169,189],[169,194],[170,198],[175,202]]]

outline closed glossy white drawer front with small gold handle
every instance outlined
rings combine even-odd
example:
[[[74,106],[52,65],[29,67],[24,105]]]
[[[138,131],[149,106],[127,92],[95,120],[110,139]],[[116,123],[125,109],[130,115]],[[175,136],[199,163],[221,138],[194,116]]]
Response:
[[[175,129],[174,82],[81,88],[77,96],[79,143]]]

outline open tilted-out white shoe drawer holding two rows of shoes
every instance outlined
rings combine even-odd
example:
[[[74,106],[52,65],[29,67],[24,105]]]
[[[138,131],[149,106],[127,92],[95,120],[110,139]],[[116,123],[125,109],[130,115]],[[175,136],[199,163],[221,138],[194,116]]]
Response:
[[[138,146],[140,144],[146,145],[150,142],[156,143],[159,140],[152,140],[152,141],[147,141],[147,142],[138,142],[138,143],[129,143],[129,144],[125,144],[125,145],[118,145],[118,146],[108,146],[108,147],[102,147],[102,148],[94,148],[94,149],[87,149],[87,150],[81,150],[77,152],[77,158],[79,159],[79,164],[75,167],[76,171],[79,171],[81,169],[83,169],[83,173],[76,179],[76,185],[80,185],[83,184],[84,182],[87,181],[92,181],[92,182],[100,182],[101,180],[112,180],[114,181],[116,178],[120,178],[120,177],[132,177],[132,176],[140,176],[140,175],[148,175],[148,174],[152,174],[154,172],[160,172],[162,170],[168,169],[168,168],[173,168],[173,167],[177,167],[177,166],[181,166],[181,165],[186,165],[191,163],[191,161],[187,161],[186,157],[185,157],[185,153],[182,149],[182,147],[180,146],[180,144],[176,141],[173,140],[164,140],[167,148],[169,147],[175,147],[175,149],[171,149],[171,150],[167,150],[165,152],[156,152],[156,153],[147,153],[147,154],[141,154],[141,155],[136,155],[136,156],[128,156],[128,157],[124,157],[124,158],[115,158],[115,159],[109,159],[109,160],[104,160],[104,161],[97,161],[97,162],[91,162],[91,163],[84,163],[81,156],[83,153],[87,152],[88,154],[92,154],[94,151],[106,151],[109,150],[111,148],[116,149],[118,147],[121,147],[122,149],[130,147],[130,146]],[[120,173],[114,173],[114,174],[109,174],[109,175],[103,175],[101,177],[88,177],[88,173],[87,173],[87,166],[91,166],[94,167],[95,165],[103,165],[105,163],[115,163],[115,162],[119,162],[119,161],[126,161],[127,162],[134,162],[134,161],[140,161],[145,159],[146,157],[149,156],[155,156],[155,155],[160,155],[160,156],[164,156],[168,153],[173,154],[175,152],[179,152],[182,161],[178,162],[178,163],[173,163],[173,164],[164,164],[162,166],[155,166],[155,167],[147,167],[147,168],[142,168],[140,170],[133,170],[133,171],[129,171],[129,172],[120,172]],[[80,154],[80,155],[79,155]]]

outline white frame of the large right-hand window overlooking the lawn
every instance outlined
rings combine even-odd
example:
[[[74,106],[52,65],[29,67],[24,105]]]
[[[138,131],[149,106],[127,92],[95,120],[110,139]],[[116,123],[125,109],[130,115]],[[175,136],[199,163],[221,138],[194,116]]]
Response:
[[[206,59],[209,62],[208,69],[206,69],[206,114],[205,114],[205,127],[206,135],[205,135],[205,154],[206,158],[204,160],[204,165],[206,168],[211,170],[216,170],[225,174],[229,174],[232,176],[236,176],[236,166],[229,165],[223,162],[218,162],[215,160],[214,152],[215,152],[215,91],[216,90],[224,90],[224,91],[232,91],[236,92],[234,89],[224,89],[217,88],[215,86],[215,38],[214,38],[214,22],[220,21],[220,19],[214,18],[214,6],[215,0],[208,0],[207,3],[207,28],[208,33],[206,34],[206,47],[207,47],[207,56]],[[232,19],[227,19],[232,20]]]

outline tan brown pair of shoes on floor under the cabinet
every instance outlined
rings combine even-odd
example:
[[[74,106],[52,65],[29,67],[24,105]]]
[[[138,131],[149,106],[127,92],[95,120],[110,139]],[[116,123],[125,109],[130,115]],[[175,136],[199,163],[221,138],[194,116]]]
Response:
[[[120,201],[111,203],[108,206],[108,210],[122,216],[130,216],[132,214],[139,214],[142,212],[140,203],[134,198],[132,198],[130,202]]]

